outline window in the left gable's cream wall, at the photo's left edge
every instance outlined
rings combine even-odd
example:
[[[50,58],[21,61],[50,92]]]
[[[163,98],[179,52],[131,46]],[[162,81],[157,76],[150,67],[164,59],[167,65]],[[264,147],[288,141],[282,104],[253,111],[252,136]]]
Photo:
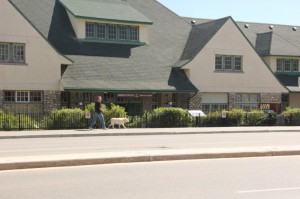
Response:
[[[0,63],[25,63],[25,44],[0,42]]]

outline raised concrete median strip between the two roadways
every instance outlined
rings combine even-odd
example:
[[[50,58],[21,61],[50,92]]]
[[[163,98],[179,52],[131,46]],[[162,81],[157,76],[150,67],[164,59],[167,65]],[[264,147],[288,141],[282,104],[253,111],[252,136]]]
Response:
[[[243,158],[300,155],[300,146],[295,147],[250,147],[230,149],[176,149],[140,152],[106,152],[99,154],[70,154],[4,158],[1,170],[101,165],[114,163],[153,162],[171,160],[196,160],[217,158]]]

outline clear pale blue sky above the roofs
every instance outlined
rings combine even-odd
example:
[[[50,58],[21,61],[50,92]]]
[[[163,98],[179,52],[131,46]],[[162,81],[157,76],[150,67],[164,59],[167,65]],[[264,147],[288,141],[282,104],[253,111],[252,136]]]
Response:
[[[158,0],[183,17],[300,26],[299,0]]]

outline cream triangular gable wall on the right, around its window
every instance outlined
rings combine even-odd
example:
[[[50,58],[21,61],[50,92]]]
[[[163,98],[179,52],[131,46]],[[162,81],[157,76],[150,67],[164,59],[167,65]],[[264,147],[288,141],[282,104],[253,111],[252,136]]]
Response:
[[[215,71],[216,54],[242,56],[243,71]],[[231,19],[184,68],[190,69],[190,79],[200,92],[287,92]]]

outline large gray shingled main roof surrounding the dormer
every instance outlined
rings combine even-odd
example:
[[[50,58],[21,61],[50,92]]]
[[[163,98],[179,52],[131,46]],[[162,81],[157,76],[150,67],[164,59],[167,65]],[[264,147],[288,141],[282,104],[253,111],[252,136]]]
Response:
[[[148,28],[146,46],[80,42],[58,1],[11,0],[59,52],[74,61],[62,78],[65,89],[197,91],[183,71],[172,68],[180,59],[191,25],[156,0],[127,1],[154,22]]]

